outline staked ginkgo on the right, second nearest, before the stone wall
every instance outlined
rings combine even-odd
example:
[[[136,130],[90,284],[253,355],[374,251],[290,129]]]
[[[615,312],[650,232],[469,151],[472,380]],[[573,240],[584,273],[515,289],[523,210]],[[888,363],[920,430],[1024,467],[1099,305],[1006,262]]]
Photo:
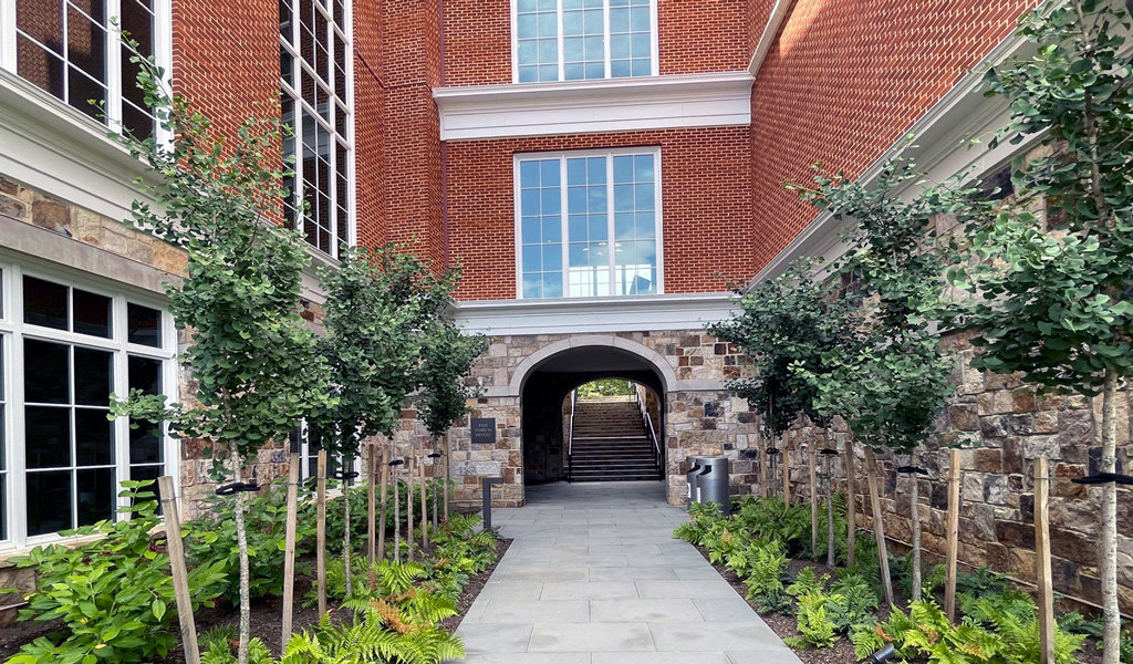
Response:
[[[812,186],[792,187],[847,224],[847,248],[834,270],[854,284],[852,333],[858,338],[832,346],[820,363],[826,373],[812,372],[809,383],[818,391],[820,411],[845,417],[871,448],[909,459],[900,470],[911,475],[913,601],[921,597],[918,475],[923,470],[917,454],[955,393],[948,381],[955,363],[942,351],[932,320],[944,291],[944,253],[932,221],[951,197],[935,190],[911,201],[901,197],[904,188],[921,185],[915,165],[897,158],[886,162],[872,186],[818,171]]]

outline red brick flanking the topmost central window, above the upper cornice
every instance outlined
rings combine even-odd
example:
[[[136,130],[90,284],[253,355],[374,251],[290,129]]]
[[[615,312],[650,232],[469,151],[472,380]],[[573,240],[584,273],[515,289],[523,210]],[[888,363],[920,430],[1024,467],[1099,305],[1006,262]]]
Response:
[[[659,0],[661,74],[746,68],[749,5]],[[444,0],[444,85],[503,83],[511,83],[511,0]]]

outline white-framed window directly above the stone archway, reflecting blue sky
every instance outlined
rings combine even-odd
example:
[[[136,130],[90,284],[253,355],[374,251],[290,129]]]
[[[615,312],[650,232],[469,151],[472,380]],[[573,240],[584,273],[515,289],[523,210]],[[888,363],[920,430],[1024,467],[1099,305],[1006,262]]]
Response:
[[[662,292],[661,150],[516,156],[517,297]]]

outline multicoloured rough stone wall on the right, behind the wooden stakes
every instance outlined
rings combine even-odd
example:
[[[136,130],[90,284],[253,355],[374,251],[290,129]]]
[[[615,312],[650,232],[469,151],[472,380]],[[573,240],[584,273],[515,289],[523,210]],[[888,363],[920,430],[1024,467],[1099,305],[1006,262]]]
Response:
[[[947,546],[948,450],[942,441],[965,440],[961,459],[960,561],[990,565],[1013,578],[1033,584],[1034,576],[1034,470],[1040,456],[1050,459],[1050,538],[1055,590],[1092,604],[1100,603],[1097,538],[1100,490],[1072,483],[1097,470],[1100,452],[1101,399],[1037,394],[1016,376],[985,374],[969,366],[972,349],[963,337],[945,339],[957,352],[953,382],[957,394],[937,422],[937,434],[917,465],[929,471],[920,478],[922,544],[934,562]],[[1118,473],[1133,469],[1130,409],[1133,392],[1125,391],[1117,406]],[[845,450],[846,428],[835,423],[829,445]],[[780,444],[787,450],[792,499],[809,501],[808,454],[810,445],[823,446],[821,431],[799,422]],[[866,496],[863,445],[854,445],[858,523],[872,528]],[[879,491],[886,536],[898,548],[911,542],[910,487],[912,479],[898,475],[905,459],[877,454]],[[845,491],[843,458],[834,463],[834,490]],[[819,471],[818,494],[825,496]],[[781,478],[770,482],[773,493]],[[752,491],[758,493],[758,487]],[[1133,491],[1118,488],[1117,497],[1118,596],[1122,611],[1133,613]]]

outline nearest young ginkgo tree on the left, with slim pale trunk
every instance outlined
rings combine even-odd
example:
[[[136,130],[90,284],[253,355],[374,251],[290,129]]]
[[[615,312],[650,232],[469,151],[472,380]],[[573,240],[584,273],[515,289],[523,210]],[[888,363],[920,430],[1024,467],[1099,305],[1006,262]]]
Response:
[[[211,443],[213,477],[231,480],[218,493],[235,502],[238,658],[247,664],[245,499],[258,491],[246,482],[248,465],[261,448],[286,440],[313,407],[333,405],[317,340],[298,314],[308,258],[298,233],[271,221],[288,195],[278,108],[269,118],[246,120],[235,136],[220,136],[188,100],[167,91],[164,71],[140,57],[134,60],[147,107],[174,139],[120,137],[151,171],[137,185],[153,203],[136,201],[127,223],[188,256],[184,280],[164,289],[170,313],[187,334],[180,359],[197,389],[181,403],[131,391],[114,401],[113,412],[165,422],[177,437]]]

